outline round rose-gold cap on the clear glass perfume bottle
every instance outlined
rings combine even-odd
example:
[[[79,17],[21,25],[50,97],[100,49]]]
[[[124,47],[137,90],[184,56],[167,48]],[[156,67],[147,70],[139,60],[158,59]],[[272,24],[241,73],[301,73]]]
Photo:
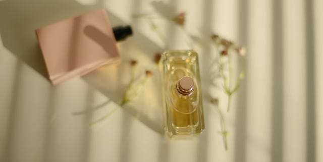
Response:
[[[176,89],[183,95],[189,95],[194,91],[194,81],[191,77],[185,76],[177,81]]]

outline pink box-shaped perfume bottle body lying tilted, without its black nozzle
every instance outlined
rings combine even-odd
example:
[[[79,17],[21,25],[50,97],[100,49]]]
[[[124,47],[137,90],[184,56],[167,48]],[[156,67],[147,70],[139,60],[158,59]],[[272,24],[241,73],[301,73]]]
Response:
[[[36,35],[54,85],[120,62],[116,39],[103,9],[38,28]]]

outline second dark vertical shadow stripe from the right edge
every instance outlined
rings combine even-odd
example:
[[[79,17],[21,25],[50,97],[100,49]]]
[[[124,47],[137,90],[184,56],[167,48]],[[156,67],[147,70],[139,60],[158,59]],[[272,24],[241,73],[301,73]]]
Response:
[[[283,160],[283,41],[282,2],[273,1],[273,107],[271,160]]]

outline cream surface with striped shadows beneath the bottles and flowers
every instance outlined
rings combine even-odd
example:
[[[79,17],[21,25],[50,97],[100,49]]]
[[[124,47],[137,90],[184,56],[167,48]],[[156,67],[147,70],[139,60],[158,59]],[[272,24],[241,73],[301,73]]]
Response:
[[[146,21],[131,18],[153,12],[149,1],[0,1],[0,161],[323,161],[323,2],[170,5],[186,11],[185,29],[202,44],[196,50],[206,128],[192,140],[167,141],[160,134],[159,93],[149,89],[156,73],[137,101],[94,127],[88,124],[121,99],[126,64],[58,86],[44,77],[34,29],[98,8],[106,9],[112,24],[134,28],[134,36],[118,44],[123,61],[137,59],[141,70],[149,68],[164,44]],[[187,48],[182,30],[160,23],[171,48]],[[247,47],[246,78],[227,115],[228,151],[209,103],[211,97],[219,96],[220,105],[226,99],[210,83],[211,33]]]

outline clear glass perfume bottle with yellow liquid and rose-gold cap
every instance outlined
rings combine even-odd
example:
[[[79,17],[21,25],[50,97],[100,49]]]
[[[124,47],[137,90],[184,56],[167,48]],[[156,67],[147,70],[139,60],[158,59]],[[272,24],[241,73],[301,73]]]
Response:
[[[197,53],[193,50],[165,51],[159,66],[166,132],[170,136],[201,133],[204,116]]]

